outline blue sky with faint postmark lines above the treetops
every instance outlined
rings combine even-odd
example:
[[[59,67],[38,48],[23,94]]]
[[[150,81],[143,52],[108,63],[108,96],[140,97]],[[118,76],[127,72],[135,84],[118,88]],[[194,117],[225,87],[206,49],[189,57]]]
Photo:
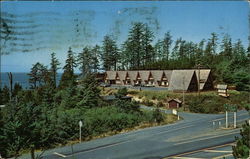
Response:
[[[199,42],[212,32],[248,45],[246,1],[1,1],[2,72],[29,72],[32,64],[50,63],[55,52],[64,65],[68,48],[102,44],[112,35],[121,45],[133,22],[147,23],[154,42],[170,31],[173,40]],[[7,26],[7,27],[6,27]],[[8,32],[9,31],[9,32]],[[9,33],[9,34],[6,34]],[[4,40],[5,39],[5,40]]]

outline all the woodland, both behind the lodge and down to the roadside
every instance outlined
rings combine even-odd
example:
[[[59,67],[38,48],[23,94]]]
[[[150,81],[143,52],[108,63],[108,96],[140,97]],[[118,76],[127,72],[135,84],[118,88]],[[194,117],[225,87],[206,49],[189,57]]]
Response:
[[[1,155],[16,157],[28,149],[34,159],[36,149],[77,139],[80,120],[86,139],[141,122],[161,122],[159,112],[142,112],[137,103],[103,101],[94,75],[99,70],[187,69],[200,64],[212,69],[216,82],[249,91],[250,48],[244,48],[241,40],[233,43],[229,35],[219,39],[216,33],[199,43],[174,40],[171,32],[155,44],[154,38],[147,24],[133,23],[121,46],[106,35],[102,46],[86,46],[78,54],[69,48],[63,67],[52,53],[49,66],[40,62],[32,66],[30,89],[23,90],[19,84],[13,90],[7,86],[0,89],[0,105],[6,105],[0,108]],[[63,74],[57,83],[61,68]],[[78,78],[82,79],[80,85]]]

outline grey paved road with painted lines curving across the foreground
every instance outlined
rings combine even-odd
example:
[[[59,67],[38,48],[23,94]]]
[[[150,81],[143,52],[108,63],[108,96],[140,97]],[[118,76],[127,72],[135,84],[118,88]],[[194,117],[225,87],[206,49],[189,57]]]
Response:
[[[232,143],[234,137],[239,135],[239,129],[222,128],[225,125],[224,114],[183,112],[179,115],[184,120],[49,150],[44,153],[44,158],[160,159],[174,158],[174,156],[178,158],[179,154],[190,154],[209,147]],[[237,115],[238,124],[249,119],[246,111],[240,111]],[[230,123],[233,121],[232,117],[232,115],[229,117]]]

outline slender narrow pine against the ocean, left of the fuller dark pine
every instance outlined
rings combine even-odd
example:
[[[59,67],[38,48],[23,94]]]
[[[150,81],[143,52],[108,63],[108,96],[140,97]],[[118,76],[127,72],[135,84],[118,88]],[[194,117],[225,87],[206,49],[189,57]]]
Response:
[[[59,67],[60,62],[59,60],[56,58],[56,53],[52,53],[51,54],[51,62],[50,62],[50,71],[52,73],[52,77],[53,77],[53,84],[54,84],[54,88],[56,88],[57,83],[56,83],[56,76],[57,76],[57,70],[60,69]]]

